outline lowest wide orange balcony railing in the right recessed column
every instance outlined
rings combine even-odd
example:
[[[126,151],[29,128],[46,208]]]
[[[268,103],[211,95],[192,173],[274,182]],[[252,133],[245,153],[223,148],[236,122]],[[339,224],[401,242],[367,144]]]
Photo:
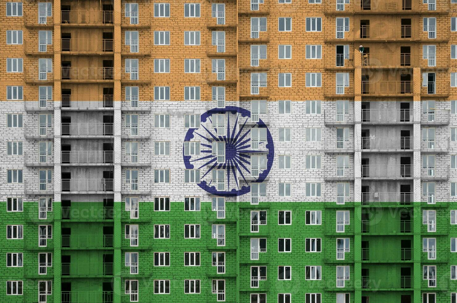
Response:
[[[361,81],[361,92],[374,96],[410,96],[413,93],[411,81]]]

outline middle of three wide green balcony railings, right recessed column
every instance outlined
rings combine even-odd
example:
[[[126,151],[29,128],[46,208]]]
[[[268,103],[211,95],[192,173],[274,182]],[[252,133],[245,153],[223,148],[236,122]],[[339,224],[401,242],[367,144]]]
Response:
[[[384,262],[398,262],[406,261],[412,262],[413,260],[413,249],[411,248],[381,248],[381,249],[369,249],[362,248],[362,261],[372,263],[384,263]]]

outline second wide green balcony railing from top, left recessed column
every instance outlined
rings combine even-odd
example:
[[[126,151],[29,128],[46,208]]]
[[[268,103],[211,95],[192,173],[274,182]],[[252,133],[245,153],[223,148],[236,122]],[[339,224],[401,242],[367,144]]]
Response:
[[[62,235],[62,248],[68,249],[109,249],[113,243],[113,235]]]

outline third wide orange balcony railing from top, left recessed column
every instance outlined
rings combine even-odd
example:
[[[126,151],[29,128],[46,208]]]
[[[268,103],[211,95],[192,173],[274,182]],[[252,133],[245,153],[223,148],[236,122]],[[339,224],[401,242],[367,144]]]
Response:
[[[62,82],[112,82],[112,67],[62,67]]]

